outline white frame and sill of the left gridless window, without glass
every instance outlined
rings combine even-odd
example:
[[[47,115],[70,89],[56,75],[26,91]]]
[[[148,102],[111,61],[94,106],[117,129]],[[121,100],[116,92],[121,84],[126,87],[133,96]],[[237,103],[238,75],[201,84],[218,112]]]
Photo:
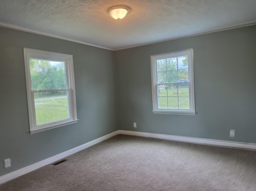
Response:
[[[32,91],[32,83],[31,83],[30,67],[29,67],[30,58],[44,59],[44,60],[50,60],[50,61],[62,61],[65,63],[67,88],[63,90],[68,92],[68,105],[69,105],[70,118],[50,122],[47,124],[36,125],[34,93],[37,91]],[[26,87],[27,87],[27,98],[28,98],[28,115],[29,115],[30,134],[76,123],[78,119],[76,115],[76,92],[75,92],[75,80],[74,80],[73,55],[24,48],[24,61],[25,61],[25,72],[26,72]]]

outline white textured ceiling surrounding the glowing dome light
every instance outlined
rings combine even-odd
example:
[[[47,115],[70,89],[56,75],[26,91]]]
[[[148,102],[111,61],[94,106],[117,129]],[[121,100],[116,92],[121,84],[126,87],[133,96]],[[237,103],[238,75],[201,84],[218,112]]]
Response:
[[[115,50],[255,23],[256,0],[0,0],[0,22]]]

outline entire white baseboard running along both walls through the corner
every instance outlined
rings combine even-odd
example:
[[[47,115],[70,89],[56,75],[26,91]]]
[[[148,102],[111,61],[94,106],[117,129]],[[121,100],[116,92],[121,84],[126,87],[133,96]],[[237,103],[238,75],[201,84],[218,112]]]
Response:
[[[59,159],[72,155],[76,152],[79,152],[83,149],[86,149],[94,144],[102,142],[112,136],[118,134],[125,134],[125,135],[133,135],[133,136],[141,136],[141,137],[150,137],[150,138],[158,138],[164,140],[172,140],[172,141],[180,141],[180,142],[188,142],[188,143],[196,143],[196,144],[206,144],[206,145],[213,145],[213,146],[224,146],[224,147],[232,147],[232,148],[244,148],[248,150],[256,150],[256,144],[254,143],[244,143],[244,142],[234,142],[234,141],[224,141],[224,140],[214,140],[214,139],[204,139],[204,138],[193,138],[193,137],[184,137],[184,136],[175,136],[175,135],[166,135],[166,134],[156,134],[156,133],[146,133],[146,132],[137,132],[137,131],[126,131],[126,130],[117,130],[105,136],[102,136],[98,139],[92,140],[86,144],[80,145],[76,148],[70,149],[66,152],[62,152],[50,158],[44,159],[27,167],[18,169],[6,175],[0,177],[0,184],[29,173],[33,170],[36,170],[42,166],[48,165],[53,163]]]

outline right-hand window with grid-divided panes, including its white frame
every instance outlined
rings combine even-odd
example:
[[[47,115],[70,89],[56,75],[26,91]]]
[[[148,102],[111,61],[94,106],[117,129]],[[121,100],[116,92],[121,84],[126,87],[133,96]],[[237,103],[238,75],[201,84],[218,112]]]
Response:
[[[193,49],[150,59],[153,113],[195,115]]]

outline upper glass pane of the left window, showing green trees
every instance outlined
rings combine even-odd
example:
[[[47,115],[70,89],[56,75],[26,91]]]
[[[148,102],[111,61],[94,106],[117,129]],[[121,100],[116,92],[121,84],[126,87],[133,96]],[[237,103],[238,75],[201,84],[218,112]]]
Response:
[[[29,60],[32,90],[66,89],[64,62],[32,59]]]

